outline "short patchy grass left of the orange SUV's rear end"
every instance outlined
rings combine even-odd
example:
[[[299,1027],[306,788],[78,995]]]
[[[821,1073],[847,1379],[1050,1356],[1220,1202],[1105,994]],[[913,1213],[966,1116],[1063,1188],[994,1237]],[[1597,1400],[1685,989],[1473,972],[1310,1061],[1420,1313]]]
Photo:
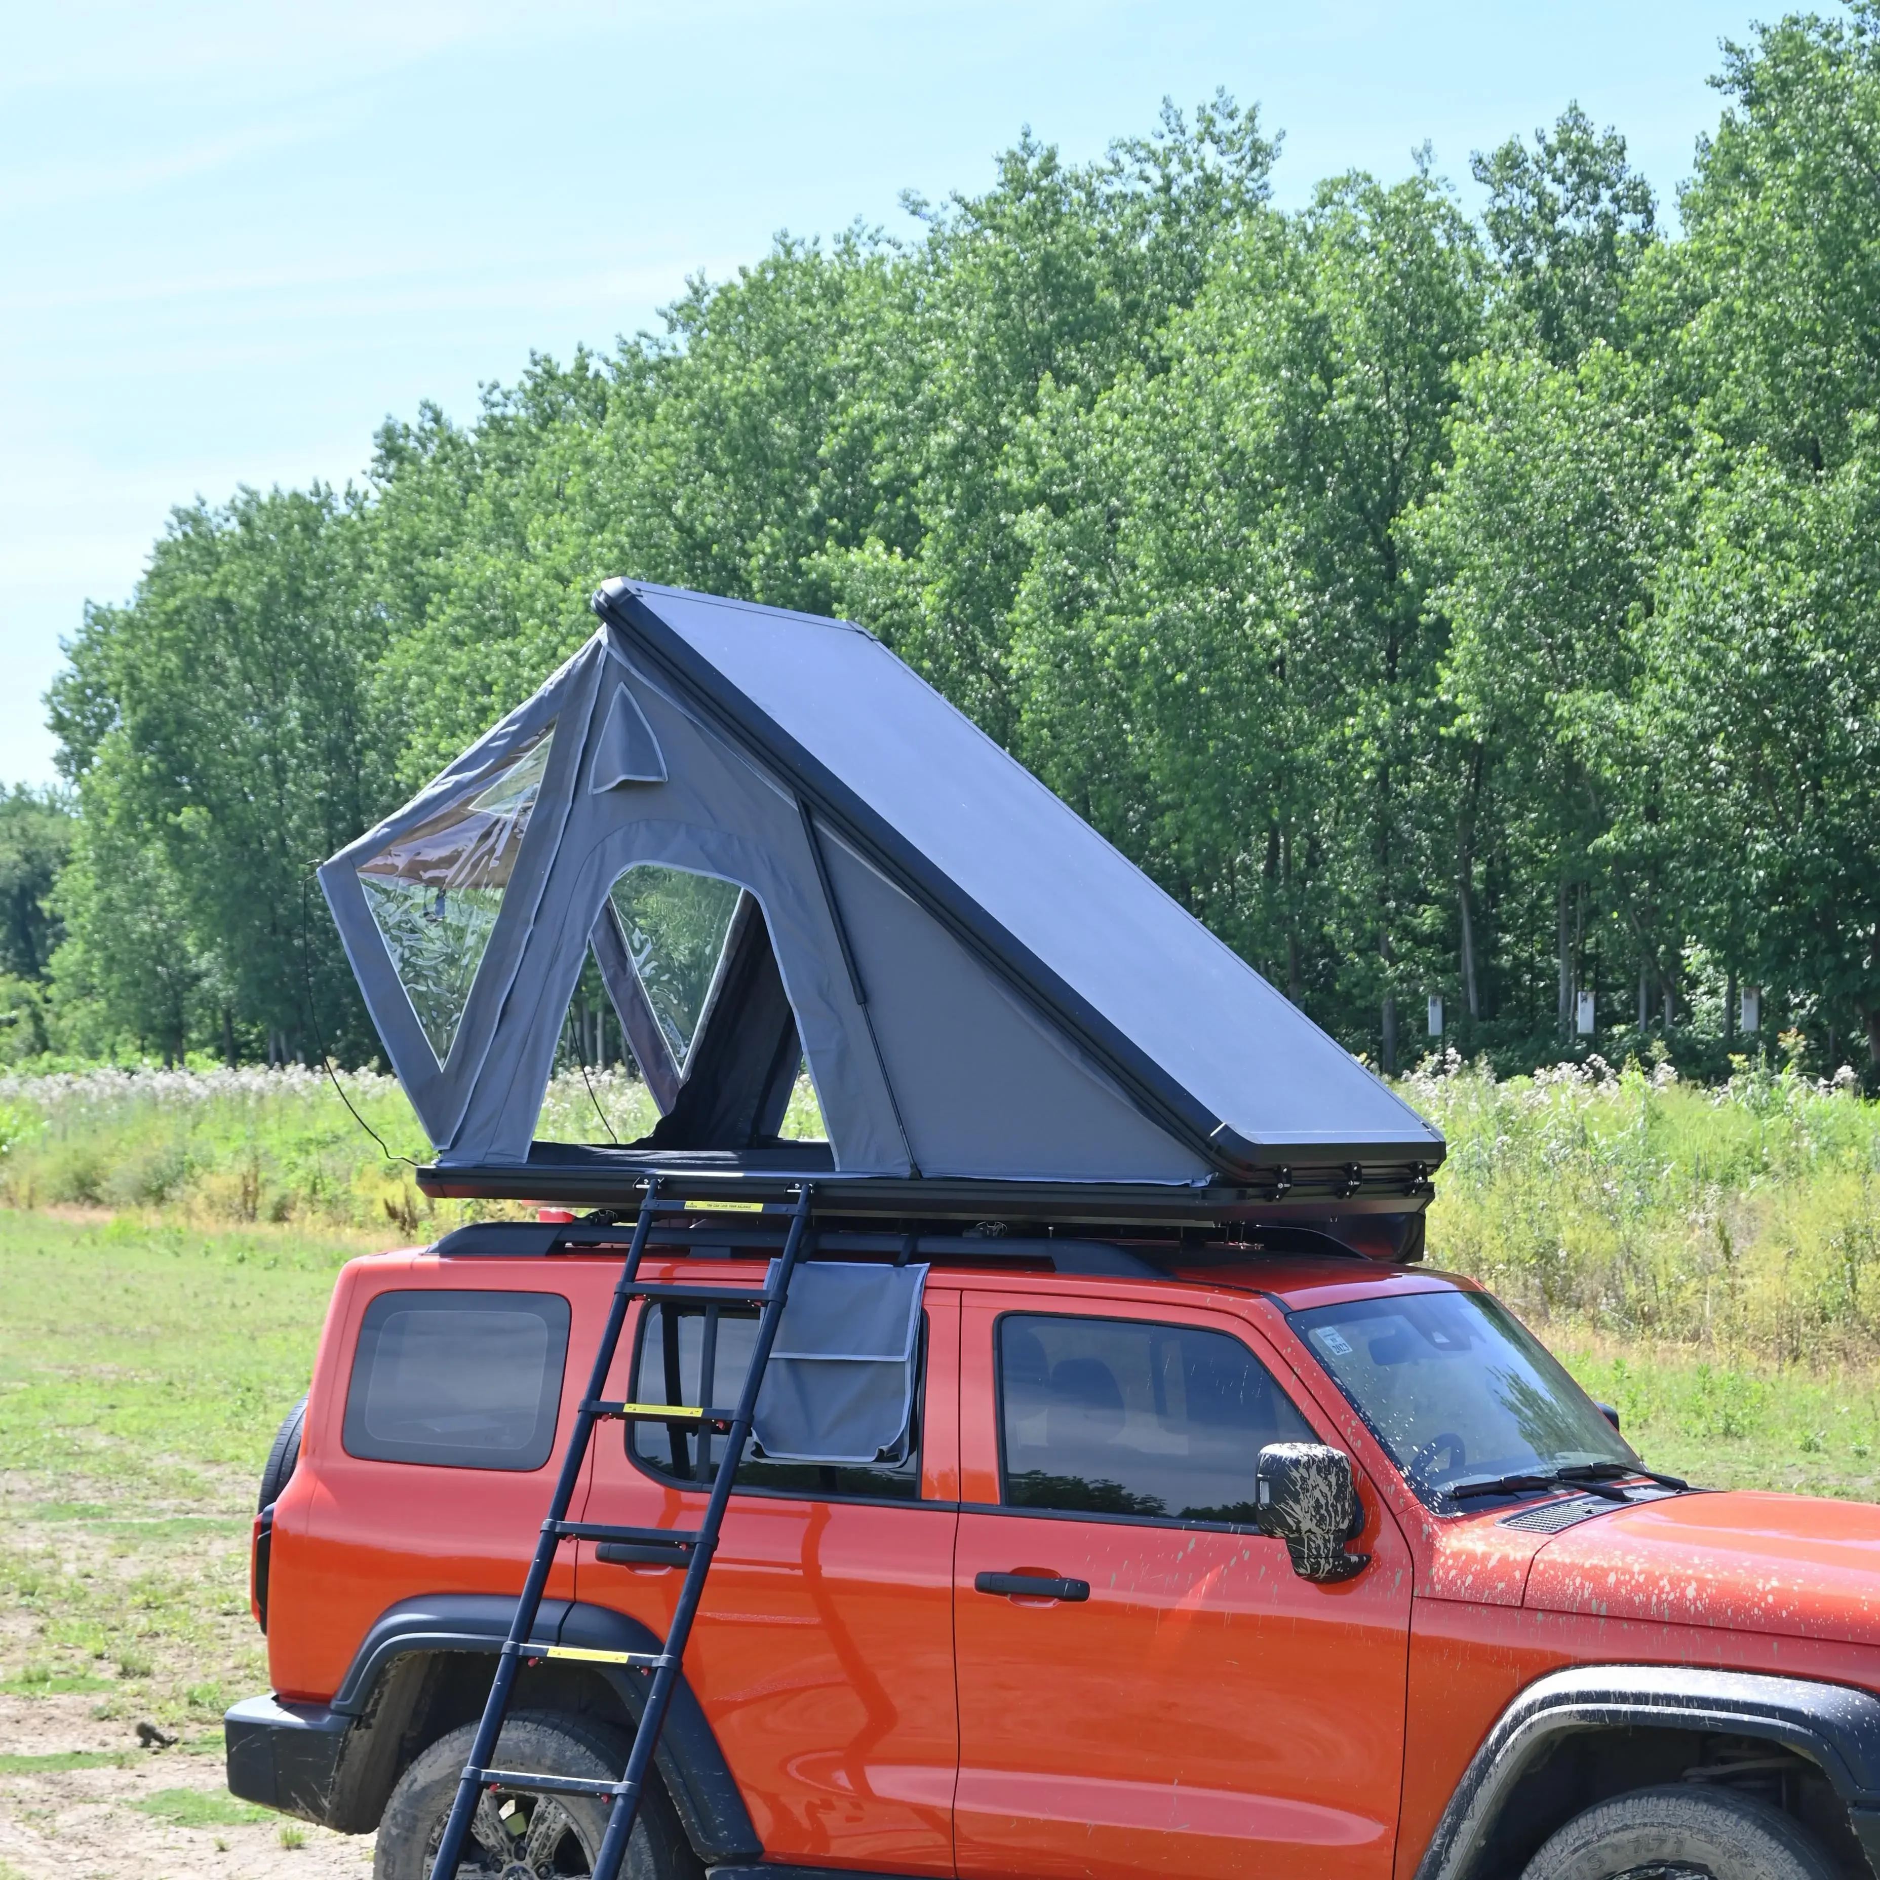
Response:
[[[0,1688],[212,1724],[265,1688],[254,1481],[355,1243],[0,1213]]]

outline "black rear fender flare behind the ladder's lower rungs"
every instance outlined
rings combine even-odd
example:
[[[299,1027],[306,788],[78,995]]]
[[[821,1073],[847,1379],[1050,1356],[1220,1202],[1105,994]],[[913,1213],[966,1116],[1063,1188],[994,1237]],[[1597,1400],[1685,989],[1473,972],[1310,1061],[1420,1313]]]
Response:
[[[451,1592],[429,1600],[400,1600],[372,1622],[329,1709],[337,1716],[353,1720],[367,1716],[380,1679],[395,1660],[410,1653],[494,1656],[508,1639],[513,1619],[511,1598]],[[530,1643],[540,1643],[543,1649],[577,1645],[587,1651],[660,1651],[660,1639],[637,1619],[573,1600],[543,1600]],[[628,1716],[639,1716],[647,1700],[645,1677],[626,1666],[611,1664],[590,1662],[583,1669],[607,1681]],[[340,1767],[335,1775],[335,1797],[350,1786],[348,1756],[368,1754],[368,1743],[370,1731],[348,1730],[348,1743],[340,1750]],[[682,1671],[673,1688],[666,1726],[660,1730],[656,1762],[686,1837],[701,1859],[735,1861],[761,1856],[763,1842],[752,1827],[731,1765]]]

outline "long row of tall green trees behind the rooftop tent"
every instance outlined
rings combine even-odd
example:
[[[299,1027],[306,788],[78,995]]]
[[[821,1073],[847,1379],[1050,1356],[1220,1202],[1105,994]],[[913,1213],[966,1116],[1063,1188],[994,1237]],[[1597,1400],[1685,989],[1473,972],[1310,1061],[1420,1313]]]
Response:
[[[1675,231],[1577,107],[1480,216],[1427,156],[1280,211],[1226,96],[1026,133],[177,509],[68,643],[68,790],[0,801],[4,1049],[368,1058],[314,863],[632,573],[861,620],[1387,1070],[1440,998],[1502,1068],[1872,1075],[1880,0],[1715,83]]]

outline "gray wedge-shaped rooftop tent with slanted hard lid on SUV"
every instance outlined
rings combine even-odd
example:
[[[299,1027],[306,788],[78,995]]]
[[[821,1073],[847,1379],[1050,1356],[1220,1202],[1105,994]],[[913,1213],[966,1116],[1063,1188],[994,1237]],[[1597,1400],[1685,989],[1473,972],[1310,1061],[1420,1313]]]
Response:
[[[1442,1137],[863,628],[637,581],[594,609],[320,870],[427,1188],[667,1167],[1421,1207]],[[532,1141],[590,951],[662,1111],[624,1149]],[[827,1145],[776,1134],[803,1064]]]

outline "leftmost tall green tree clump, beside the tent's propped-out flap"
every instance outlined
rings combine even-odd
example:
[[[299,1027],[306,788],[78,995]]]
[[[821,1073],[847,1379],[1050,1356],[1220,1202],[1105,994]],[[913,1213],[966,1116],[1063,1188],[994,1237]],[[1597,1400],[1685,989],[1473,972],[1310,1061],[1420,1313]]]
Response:
[[[350,521],[323,489],[179,509],[135,602],[86,615],[53,688],[86,831],[71,944],[103,1021],[165,1055],[205,998],[231,1055],[237,1013],[308,1049],[310,1000],[344,1047],[367,1042],[303,895],[387,797],[367,709],[384,630]]]

